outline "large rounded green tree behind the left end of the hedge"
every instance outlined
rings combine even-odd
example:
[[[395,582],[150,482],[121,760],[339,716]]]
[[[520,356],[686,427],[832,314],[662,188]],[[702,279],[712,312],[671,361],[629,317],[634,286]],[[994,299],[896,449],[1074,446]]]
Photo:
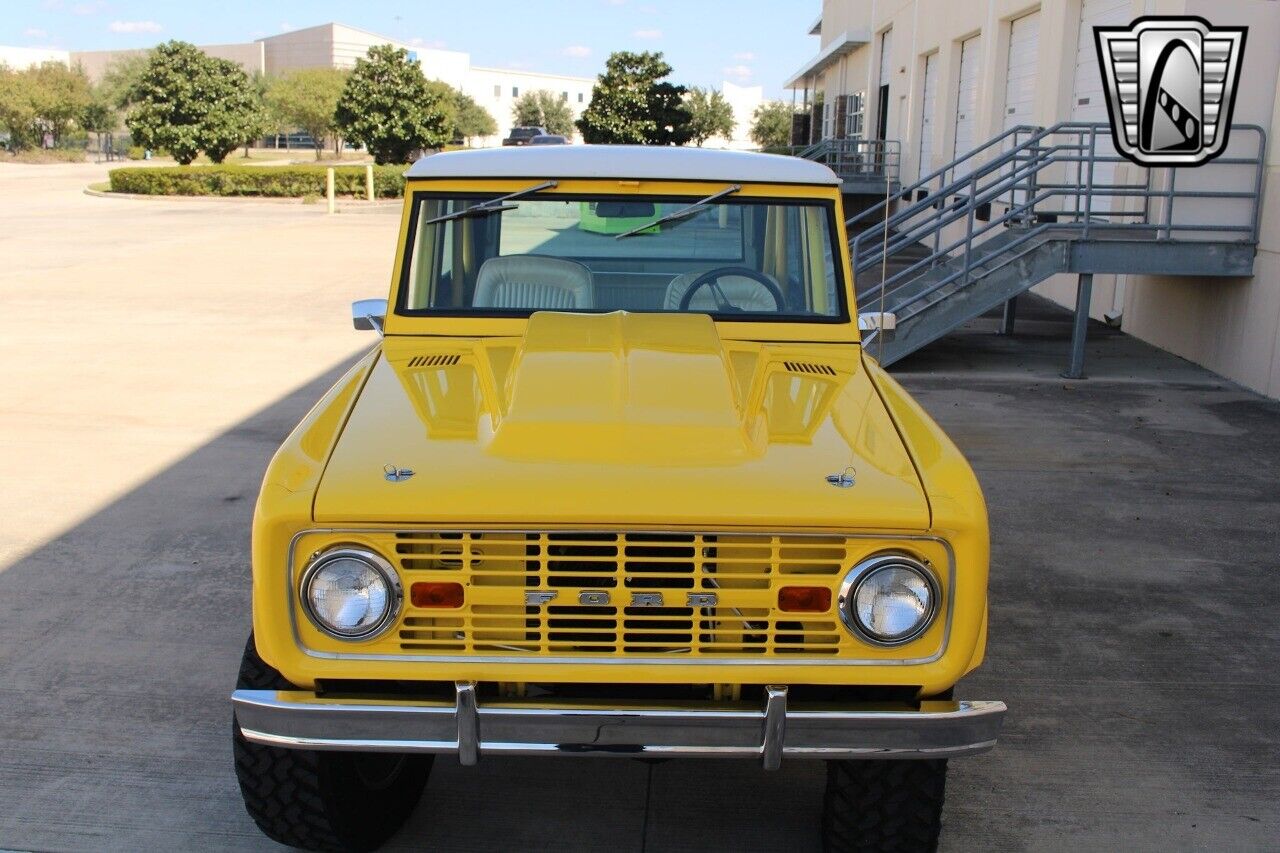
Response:
[[[134,143],[163,149],[183,165],[200,151],[221,163],[262,132],[264,113],[248,74],[183,41],[152,50],[125,99]]]

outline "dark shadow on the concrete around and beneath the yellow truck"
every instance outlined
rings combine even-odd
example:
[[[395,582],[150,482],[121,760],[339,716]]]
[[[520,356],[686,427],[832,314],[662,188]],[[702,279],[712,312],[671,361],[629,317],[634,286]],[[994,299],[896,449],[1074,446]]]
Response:
[[[952,762],[945,850],[1265,849],[1280,836],[1280,403],[1066,323],[951,336],[899,378],[992,520],[1010,706]],[[1091,333],[1093,329],[1091,329]],[[261,471],[346,365],[0,571],[0,848],[270,849],[232,772]],[[74,471],[67,488],[76,488]],[[393,849],[817,849],[822,766],[444,757]]]

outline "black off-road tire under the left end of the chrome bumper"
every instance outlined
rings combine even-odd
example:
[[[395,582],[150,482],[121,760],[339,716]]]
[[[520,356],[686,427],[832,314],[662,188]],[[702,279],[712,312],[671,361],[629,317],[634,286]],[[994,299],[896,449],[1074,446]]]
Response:
[[[291,684],[244,647],[239,689]],[[404,824],[422,795],[433,756],[312,752],[264,747],[232,720],[236,777],[244,808],[269,838],[305,850],[375,850]]]

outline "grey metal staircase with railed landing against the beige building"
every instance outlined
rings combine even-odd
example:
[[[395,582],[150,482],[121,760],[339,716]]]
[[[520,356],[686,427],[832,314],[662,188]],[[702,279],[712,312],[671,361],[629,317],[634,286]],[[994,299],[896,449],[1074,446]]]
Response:
[[[886,365],[1051,275],[1079,275],[1071,361],[1083,370],[1094,274],[1252,275],[1266,132],[1231,127],[1194,169],[1129,165],[1106,124],[1015,127],[847,222],[859,311],[893,314]],[[1116,167],[1128,182],[1116,182]]]

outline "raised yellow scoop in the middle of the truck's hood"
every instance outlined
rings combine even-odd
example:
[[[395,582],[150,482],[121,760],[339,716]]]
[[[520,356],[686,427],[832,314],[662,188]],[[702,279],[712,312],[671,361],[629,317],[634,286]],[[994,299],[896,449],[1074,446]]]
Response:
[[[535,314],[508,388],[488,447],[504,459],[668,466],[764,452],[703,314]]]

